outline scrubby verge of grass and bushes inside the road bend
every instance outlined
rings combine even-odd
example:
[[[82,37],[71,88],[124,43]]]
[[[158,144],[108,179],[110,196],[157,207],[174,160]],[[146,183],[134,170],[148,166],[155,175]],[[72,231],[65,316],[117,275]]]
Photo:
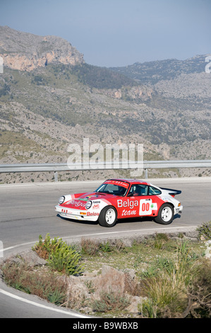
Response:
[[[89,307],[92,315],[101,317],[207,318],[211,316],[211,264],[205,252],[210,236],[206,242],[201,238],[202,230],[210,235],[210,229],[210,222],[202,225],[194,242],[183,233],[174,237],[156,234],[135,239],[131,245],[121,239],[99,242],[85,238],[80,244],[68,245],[47,234],[33,247],[46,265],[32,267],[16,256],[1,265],[2,276],[9,286],[82,312]],[[96,298],[95,281],[99,281],[96,278],[103,265],[124,274],[124,291],[112,290],[111,284],[110,290],[100,289]],[[86,278],[88,272],[92,278]],[[86,295],[69,292],[72,285],[65,277],[71,275],[83,278],[78,277],[78,288],[85,288]],[[134,297],[139,301],[136,313],[131,313],[128,305]]]

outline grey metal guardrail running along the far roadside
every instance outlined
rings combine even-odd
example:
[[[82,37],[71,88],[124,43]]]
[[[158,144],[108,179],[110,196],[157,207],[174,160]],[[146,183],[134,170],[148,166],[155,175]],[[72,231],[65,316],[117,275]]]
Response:
[[[127,164],[127,166],[126,166]],[[141,161],[127,162],[121,164],[115,162],[88,163],[88,164],[0,164],[0,173],[11,172],[47,172],[54,171],[54,179],[58,180],[58,171],[82,171],[82,170],[109,170],[109,169],[137,169],[138,167],[145,170],[147,178],[147,169],[181,169],[181,168],[210,168],[211,159],[187,159],[187,160],[168,160],[168,161]]]

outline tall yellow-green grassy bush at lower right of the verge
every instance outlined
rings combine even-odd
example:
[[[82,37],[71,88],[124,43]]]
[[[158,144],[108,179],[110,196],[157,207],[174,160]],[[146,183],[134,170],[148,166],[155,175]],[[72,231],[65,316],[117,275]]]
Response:
[[[140,281],[145,303],[138,305],[143,317],[176,317],[188,305],[187,288],[193,281],[194,259],[188,242],[181,242],[175,250],[176,258],[158,257],[154,269]]]

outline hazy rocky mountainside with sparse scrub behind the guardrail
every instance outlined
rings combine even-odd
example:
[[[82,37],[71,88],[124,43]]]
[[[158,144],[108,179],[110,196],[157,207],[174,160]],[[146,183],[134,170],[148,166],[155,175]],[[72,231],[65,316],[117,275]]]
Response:
[[[203,70],[203,56],[107,69],[86,64],[62,38],[8,27],[0,33],[0,164],[66,162],[68,145],[83,147],[83,138],[103,147],[143,143],[146,160],[211,159],[211,74]],[[210,174],[149,171],[149,176]],[[111,176],[130,177],[130,171],[70,171],[59,180]],[[1,174],[0,183],[53,178]]]

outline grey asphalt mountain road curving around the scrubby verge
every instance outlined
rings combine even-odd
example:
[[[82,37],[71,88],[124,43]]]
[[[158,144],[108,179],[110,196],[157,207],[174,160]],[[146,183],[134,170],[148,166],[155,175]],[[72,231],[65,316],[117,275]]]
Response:
[[[157,186],[182,191],[176,198],[183,205],[183,213],[177,215],[171,225],[159,225],[147,218],[140,218],[119,220],[114,227],[104,228],[97,222],[76,222],[56,215],[54,205],[61,195],[93,191],[102,181],[0,185],[0,245],[3,246],[4,257],[32,247],[39,235],[44,237],[47,233],[52,238],[69,240],[82,236],[123,238],[128,235],[194,230],[201,223],[211,220],[211,178],[150,181]],[[66,310],[58,312],[58,307],[7,288],[1,282],[0,317],[77,317],[77,314],[71,311],[66,313]]]

